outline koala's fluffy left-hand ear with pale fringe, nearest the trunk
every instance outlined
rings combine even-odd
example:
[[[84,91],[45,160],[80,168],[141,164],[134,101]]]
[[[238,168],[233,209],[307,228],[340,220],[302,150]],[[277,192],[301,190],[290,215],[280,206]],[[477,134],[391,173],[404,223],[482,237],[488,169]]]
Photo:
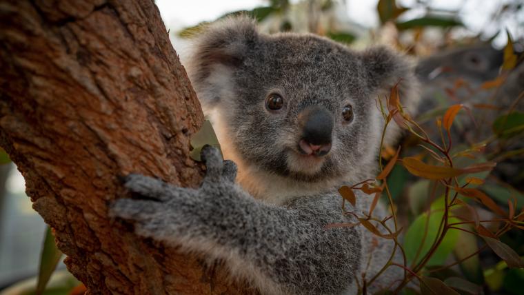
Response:
[[[258,39],[255,22],[248,17],[228,17],[196,34],[186,65],[196,92],[211,90],[208,89],[212,88],[211,84],[227,83],[228,73],[242,63],[245,54],[249,54]],[[213,77],[214,74],[217,77]],[[221,81],[214,83],[214,80]],[[206,100],[201,95],[199,99]]]

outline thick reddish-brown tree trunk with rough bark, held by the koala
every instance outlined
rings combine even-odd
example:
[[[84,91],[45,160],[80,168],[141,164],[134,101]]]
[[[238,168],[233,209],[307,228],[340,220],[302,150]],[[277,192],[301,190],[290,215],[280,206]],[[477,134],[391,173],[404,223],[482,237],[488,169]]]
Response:
[[[131,172],[199,185],[202,121],[154,1],[0,0],[0,144],[88,293],[248,292],[108,218]]]

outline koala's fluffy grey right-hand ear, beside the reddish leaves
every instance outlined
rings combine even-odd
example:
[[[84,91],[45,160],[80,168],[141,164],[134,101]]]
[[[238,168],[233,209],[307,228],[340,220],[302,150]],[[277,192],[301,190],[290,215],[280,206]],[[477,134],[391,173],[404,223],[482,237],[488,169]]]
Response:
[[[380,98],[389,97],[391,88],[399,83],[399,97],[404,110],[415,116],[419,106],[419,79],[415,75],[415,63],[409,57],[378,46],[369,48],[362,55],[366,69],[367,85],[377,91]],[[401,134],[396,123],[388,125],[386,143],[394,144]]]

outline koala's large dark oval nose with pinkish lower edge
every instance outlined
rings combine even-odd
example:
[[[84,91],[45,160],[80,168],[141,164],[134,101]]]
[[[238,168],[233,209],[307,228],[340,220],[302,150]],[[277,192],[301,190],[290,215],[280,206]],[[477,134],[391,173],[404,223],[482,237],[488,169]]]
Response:
[[[307,108],[299,114],[302,138],[299,148],[303,154],[324,156],[331,150],[333,116],[321,106]]]

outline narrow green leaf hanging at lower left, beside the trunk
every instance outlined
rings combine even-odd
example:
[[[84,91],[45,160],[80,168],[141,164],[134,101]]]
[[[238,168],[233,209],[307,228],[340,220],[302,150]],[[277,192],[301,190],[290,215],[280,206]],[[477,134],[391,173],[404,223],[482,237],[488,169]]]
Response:
[[[57,267],[62,252],[58,250],[57,244],[54,243],[54,236],[52,235],[51,227],[48,226],[46,231],[46,237],[43,240],[42,254],[40,257],[40,270],[38,274],[38,283],[36,294],[42,294],[43,290],[46,289],[49,278]]]

